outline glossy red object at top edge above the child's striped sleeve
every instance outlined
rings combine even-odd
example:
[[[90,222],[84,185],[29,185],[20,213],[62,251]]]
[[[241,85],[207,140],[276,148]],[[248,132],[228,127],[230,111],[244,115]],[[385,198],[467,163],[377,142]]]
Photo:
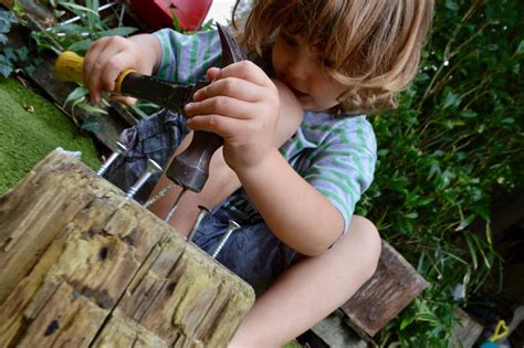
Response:
[[[212,0],[130,0],[132,11],[147,28],[172,28],[175,13],[184,30],[197,31],[209,12]]]

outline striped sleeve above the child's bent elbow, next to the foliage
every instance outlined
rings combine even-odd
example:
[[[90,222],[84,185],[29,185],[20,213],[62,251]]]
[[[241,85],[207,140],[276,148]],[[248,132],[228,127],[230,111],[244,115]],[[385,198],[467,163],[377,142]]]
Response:
[[[355,205],[371,184],[377,161],[373,127],[364,116],[329,126],[327,136],[311,154],[303,177],[342,213],[347,231]]]

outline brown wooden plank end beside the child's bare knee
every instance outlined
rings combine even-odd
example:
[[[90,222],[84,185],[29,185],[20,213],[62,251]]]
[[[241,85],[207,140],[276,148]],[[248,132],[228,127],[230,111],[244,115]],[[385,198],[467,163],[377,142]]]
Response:
[[[428,285],[394,247],[382,241],[377,271],[342,309],[356,327],[375,336]]]

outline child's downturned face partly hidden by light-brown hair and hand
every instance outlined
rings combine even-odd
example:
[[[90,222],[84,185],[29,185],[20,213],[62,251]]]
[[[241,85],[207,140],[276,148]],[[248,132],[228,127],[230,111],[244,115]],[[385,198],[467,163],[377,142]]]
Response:
[[[297,38],[280,33],[272,53],[276,77],[294,93],[307,110],[327,110],[339,104],[345,86],[329,77],[322,57]]]

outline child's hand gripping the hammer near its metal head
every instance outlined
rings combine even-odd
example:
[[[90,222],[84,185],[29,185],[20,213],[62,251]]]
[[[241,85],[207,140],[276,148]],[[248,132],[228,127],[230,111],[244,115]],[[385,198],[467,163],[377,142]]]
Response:
[[[212,83],[186,106],[189,127],[223,137],[223,157],[233,170],[256,166],[274,146],[280,112],[276,86],[249,61],[210,68],[208,77]]]

